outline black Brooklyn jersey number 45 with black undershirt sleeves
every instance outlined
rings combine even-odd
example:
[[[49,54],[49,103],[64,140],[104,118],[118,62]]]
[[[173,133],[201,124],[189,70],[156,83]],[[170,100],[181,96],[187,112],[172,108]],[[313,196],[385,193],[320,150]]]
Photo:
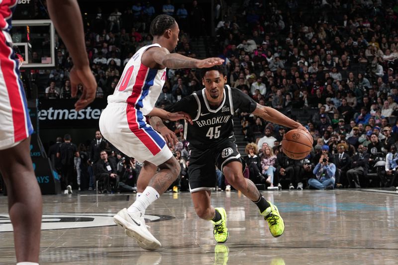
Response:
[[[189,141],[190,148],[208,149],[228,138],[235,141],[233,113],[238,108],[244,112],[253,112],[256,105],[247,94],[226,85],[223,100],[218,107],[210,106],[203,88],[166,107],[166,110],[190,114],[194,124],[185,123],[184,138]]]

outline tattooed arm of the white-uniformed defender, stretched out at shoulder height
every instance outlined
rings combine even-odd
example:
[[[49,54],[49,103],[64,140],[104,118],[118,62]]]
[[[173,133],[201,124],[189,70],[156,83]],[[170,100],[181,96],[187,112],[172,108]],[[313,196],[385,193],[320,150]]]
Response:
[[[154,51],[154,50],[153,50]],[[207,68],[214,65],[221,65],[224,60],[221,58],[206,58],[198,60],[178,53],[170,53],[165,48],[158,48],[156,52],[152,54],[153,59],[156,63],[163,65],[167,68]]]

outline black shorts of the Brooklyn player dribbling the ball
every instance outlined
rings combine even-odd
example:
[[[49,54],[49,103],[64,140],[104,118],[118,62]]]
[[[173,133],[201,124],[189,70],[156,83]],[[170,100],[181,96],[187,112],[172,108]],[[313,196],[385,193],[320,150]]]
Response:
[[[216,186],[215,165],[223,172],[223,167],[232,161],[241,161],[237,145],[228,140],[213,148],[199,150],[192,148],[188,158],[190,191],[214,190]]]

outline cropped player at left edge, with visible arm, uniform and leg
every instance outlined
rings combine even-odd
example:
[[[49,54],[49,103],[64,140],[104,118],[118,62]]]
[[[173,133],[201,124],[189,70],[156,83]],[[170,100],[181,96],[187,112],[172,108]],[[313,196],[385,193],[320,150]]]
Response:
[[[30,158],[33,127],[9,35],[16,2],[0,1],[0,171],[8,192],[17,264],[35,265],[39,262],[42,200]],[[94,100],[97,88],[85,49],[80,8],[76,0],[47,0],[47,6],[73,58],[72,95],[76,96],[78,84],[84,86],[75,104],[79,110]]]

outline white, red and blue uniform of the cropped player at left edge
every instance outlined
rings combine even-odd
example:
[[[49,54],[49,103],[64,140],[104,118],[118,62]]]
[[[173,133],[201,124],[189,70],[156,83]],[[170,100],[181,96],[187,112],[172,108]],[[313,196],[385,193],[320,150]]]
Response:
[[[0,150],[17,145],[33,133],[19,61],[12,50],[11,16],[16,0],[0,0]]]

